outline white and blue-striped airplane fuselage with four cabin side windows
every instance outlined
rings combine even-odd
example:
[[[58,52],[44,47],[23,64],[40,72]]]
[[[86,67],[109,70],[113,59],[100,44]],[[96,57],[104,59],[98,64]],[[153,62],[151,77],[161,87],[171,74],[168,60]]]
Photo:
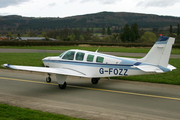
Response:
[[[72,56],[71,53],[73,53]],[[138,62],[138,59],[116,57],[85,50],[68,50],[60,56],[44,58],[43,63],[49,68],[74,70],[89,78],[147,74],[134,67],[142,64],[142,62]]]

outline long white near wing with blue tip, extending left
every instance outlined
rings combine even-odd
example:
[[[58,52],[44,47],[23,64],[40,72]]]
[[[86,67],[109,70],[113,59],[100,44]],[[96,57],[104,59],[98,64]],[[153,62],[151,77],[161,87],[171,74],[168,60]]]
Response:
[[[82,72],[75,71],[73,69],[68,69],[68,68],[32,67],[32,66],[19,66],[19,65],[9,65],[9,64],[3,64],[2,67],[17,69],[17,70],[35,71],[35,72],[61,74],[61,75],[70,75],[70,76],[78,76],[78,77],[85,77],[86,76],[86,74],[84,74]]]

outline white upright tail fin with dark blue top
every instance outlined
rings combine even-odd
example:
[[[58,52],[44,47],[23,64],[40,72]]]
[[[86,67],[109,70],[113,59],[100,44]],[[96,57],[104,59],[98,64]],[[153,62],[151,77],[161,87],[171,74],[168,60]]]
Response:
[[[160,36],[148,54],[139,61],[167,67],[174,41],[175,38]]]

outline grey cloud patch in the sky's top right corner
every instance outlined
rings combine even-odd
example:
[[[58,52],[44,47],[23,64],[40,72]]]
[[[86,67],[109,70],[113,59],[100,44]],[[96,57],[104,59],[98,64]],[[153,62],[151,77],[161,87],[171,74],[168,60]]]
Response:
[[[179,0],[141,0],[137,6],[139,7],[159,7],[165,8],[169,6],[173,6],[176,3],[180,3]]]

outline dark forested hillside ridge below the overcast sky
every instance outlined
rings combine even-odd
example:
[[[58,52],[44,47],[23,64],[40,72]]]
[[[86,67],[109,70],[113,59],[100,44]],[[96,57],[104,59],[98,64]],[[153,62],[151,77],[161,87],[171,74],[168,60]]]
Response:
[[[140,28],[163,28],[176,26],[180,17],[158,16],[126,12],[100,12],[66,18],[34,18],[17,15],[0,16],[0,30],[40,30],[61,28],[102,28],[107,26],[123,27],[137,23]]]

